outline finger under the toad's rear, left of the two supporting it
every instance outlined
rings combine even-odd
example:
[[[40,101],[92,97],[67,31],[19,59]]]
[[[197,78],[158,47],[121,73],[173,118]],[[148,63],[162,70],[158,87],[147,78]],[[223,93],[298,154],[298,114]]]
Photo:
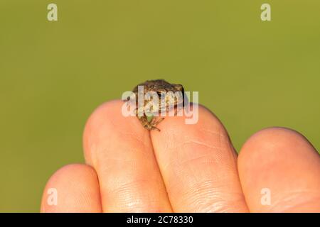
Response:
[[[170,212],[149,132],[136,117],[122,115],[122,101],[109,101],[87,121],[85,161],[97,172],[107,212]]]

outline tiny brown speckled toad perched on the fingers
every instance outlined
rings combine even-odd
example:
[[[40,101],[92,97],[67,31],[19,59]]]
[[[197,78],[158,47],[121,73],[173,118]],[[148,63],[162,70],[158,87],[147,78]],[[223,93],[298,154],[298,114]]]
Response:
[[[156,92],[158,94],[158,96],[159,96],[159,110],[166,108],[166,111],[168,111],[170,105],[174,105],[176,107],[178,104],[178,101],[183,102],[183,97],[181,99],[179,99],[178,101],[175,99],[174,103],[169,103],[170,101],[166,100],[166,101],[162,101],[162,104],[161,104],[161,99],[160,99],[161,92],[174,92],[174,93],[181,92],[183,95],[184,90],[183,90],[183,87],[181,84],[170,84],[169,82],[166,82],[164,79],[147,80],[146,82],[144,82],[142,84],[138,84],[137,87],[134,87],[134,89],[132,90],[132,92],[134,92],[134,94],[136,94],[136,98],[138,96],[138,86],[142,86],[142,85],[144,86],[144,94],[146,94],[146,92]],[[148,101],[144,100],[144,106],[147,103],[148,103]],[[160,131],[159,128],[156,128],[156,125],[159,124],[162,120],[164,120],[164,118],[160,118],[157,120],[154,117],[149,122],[146,114],[143,114],[143,116],[138,116],[139,111],[140,110],[137,107],[137,109],[136,109],[137,118],[142,123],[142,126],[144,126],[144,128],[146,128],[148,130],[156,129],[157,131]],[[143,110],[141,110],[141,111],[143,111]],[[175,111],[176,111],[176,109],[175,109]]]

